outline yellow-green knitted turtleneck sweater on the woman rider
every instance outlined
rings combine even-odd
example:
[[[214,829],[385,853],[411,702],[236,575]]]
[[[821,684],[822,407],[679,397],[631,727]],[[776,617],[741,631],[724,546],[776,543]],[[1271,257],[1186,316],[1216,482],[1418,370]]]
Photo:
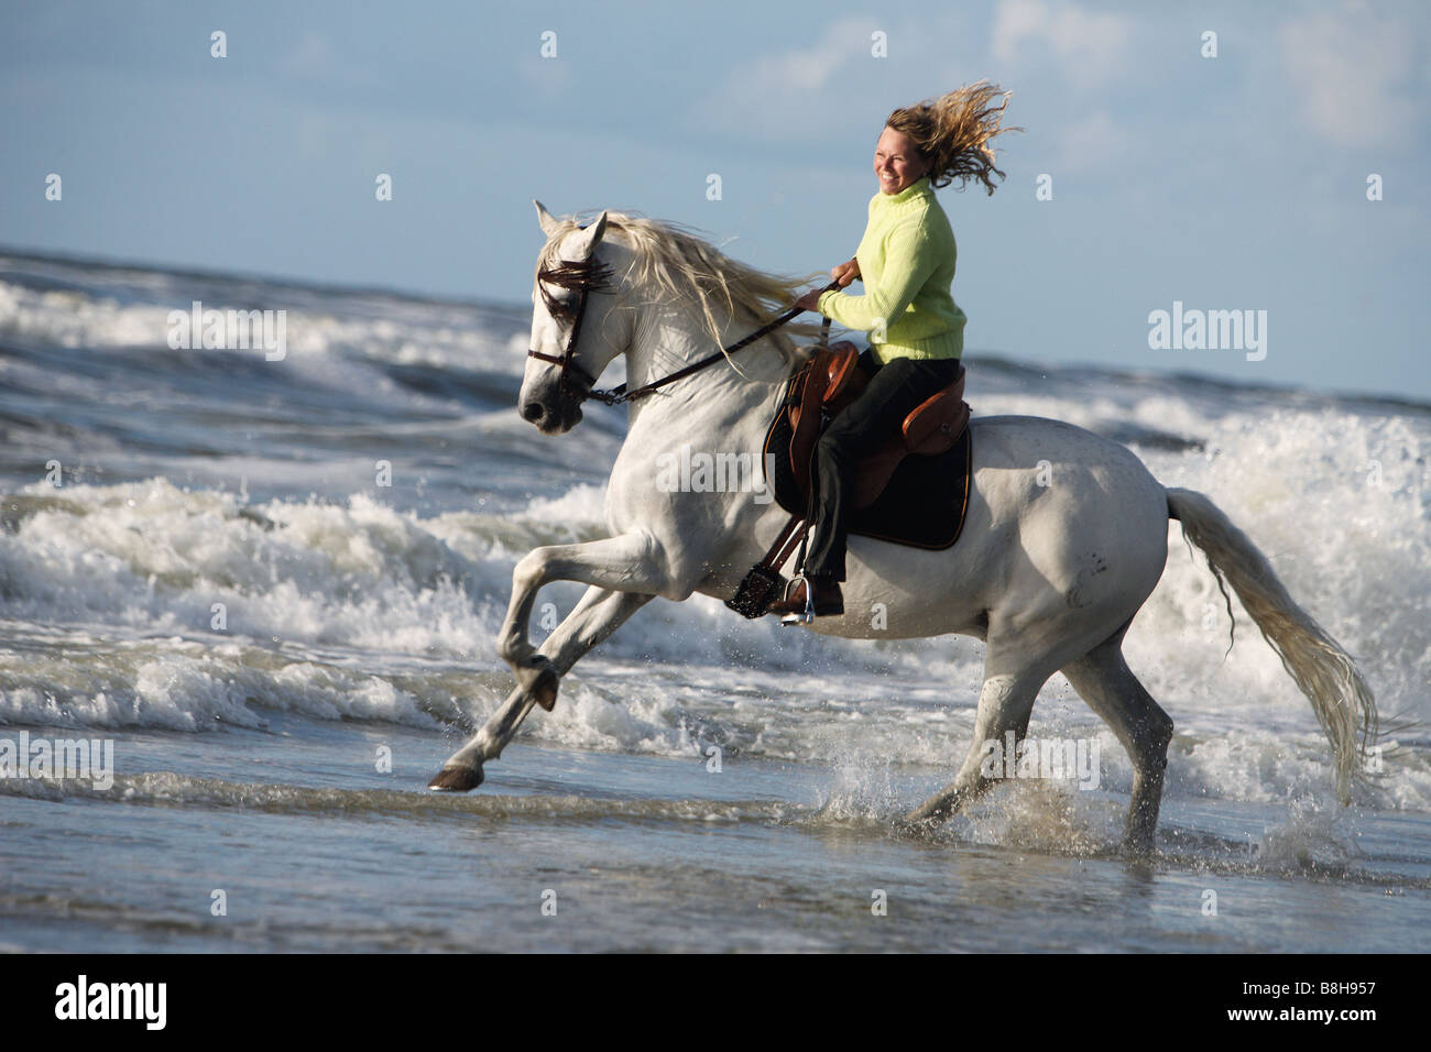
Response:
[[[899,193],[876,193],[854,255],[866,293],[826,292],[820,313],[870,333],[881,364],[892,358],[959,358],[966,318],[949,292],[956,255],[954,232],[929,176]],[[877,342],[881,321],[884,339]]]

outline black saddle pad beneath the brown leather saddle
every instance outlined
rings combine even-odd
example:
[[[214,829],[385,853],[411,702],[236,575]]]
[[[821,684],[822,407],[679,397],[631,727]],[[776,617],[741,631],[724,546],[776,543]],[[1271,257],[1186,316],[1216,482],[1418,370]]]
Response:
[[[874,504],[850,512],[849,532],[913,548],[952,547],[964,528],[969,511],[973,467],[970,431],[964,428],[947,452],[900,461]],[[764,452],[774,454],[776,477],[767,478],[766,484],[774,490],[776,502],[791,515],[804,515],[806,500],[790,467],[790,419],[784,408],[766,432]],[[770,462],[768,457],[761,457],[763,465]]]

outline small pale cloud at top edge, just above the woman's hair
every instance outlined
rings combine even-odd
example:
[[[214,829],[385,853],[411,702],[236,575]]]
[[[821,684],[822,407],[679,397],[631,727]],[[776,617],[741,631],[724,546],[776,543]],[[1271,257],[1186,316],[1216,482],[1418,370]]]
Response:
[[[992,50],[1000,62],[1052,63],[1069,84],[1089,90],[1126,70],[1132,37],[1133,20],[1122,14],[1085,11],[1072,0],[1002,0]]]

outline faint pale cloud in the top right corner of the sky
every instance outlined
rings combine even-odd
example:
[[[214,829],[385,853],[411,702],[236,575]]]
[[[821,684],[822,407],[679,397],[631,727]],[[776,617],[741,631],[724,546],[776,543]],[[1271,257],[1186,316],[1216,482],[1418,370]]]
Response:
[[[1276,37],[1298,116],[1325,142],[1390,146],[1424,129],[1424,94],[1408,83],[1427,53],[1422,26],[1347,3],[1339,11],[1288,19]]]

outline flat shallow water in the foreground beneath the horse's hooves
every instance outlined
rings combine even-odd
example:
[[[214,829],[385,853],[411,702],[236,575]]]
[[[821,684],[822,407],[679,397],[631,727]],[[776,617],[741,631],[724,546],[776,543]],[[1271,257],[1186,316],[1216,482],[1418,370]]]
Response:
[[[379,744],[394,750],[378,774]],[[10,948],[94,950],[1424,949],[1431,823],[1000,790],[933,837],[821,766],[512,746],[491,784],[422,789],[432,740],[301,717],[119,737],[110,792],[4,786]],[[930,774],[889,789],[937,787]],[[1003,799],[999,799],[999,797]],[[1086,797],[1086,799],[1085,799]],[[215,889],[226,915],[212,916]],[[873,912],[884,892],[887,913]],[[1208,892],[1216,915],[1205,913]],[[545,899],[544,899],[545,896]],[[542,905],[554,903],[554,913]]]

